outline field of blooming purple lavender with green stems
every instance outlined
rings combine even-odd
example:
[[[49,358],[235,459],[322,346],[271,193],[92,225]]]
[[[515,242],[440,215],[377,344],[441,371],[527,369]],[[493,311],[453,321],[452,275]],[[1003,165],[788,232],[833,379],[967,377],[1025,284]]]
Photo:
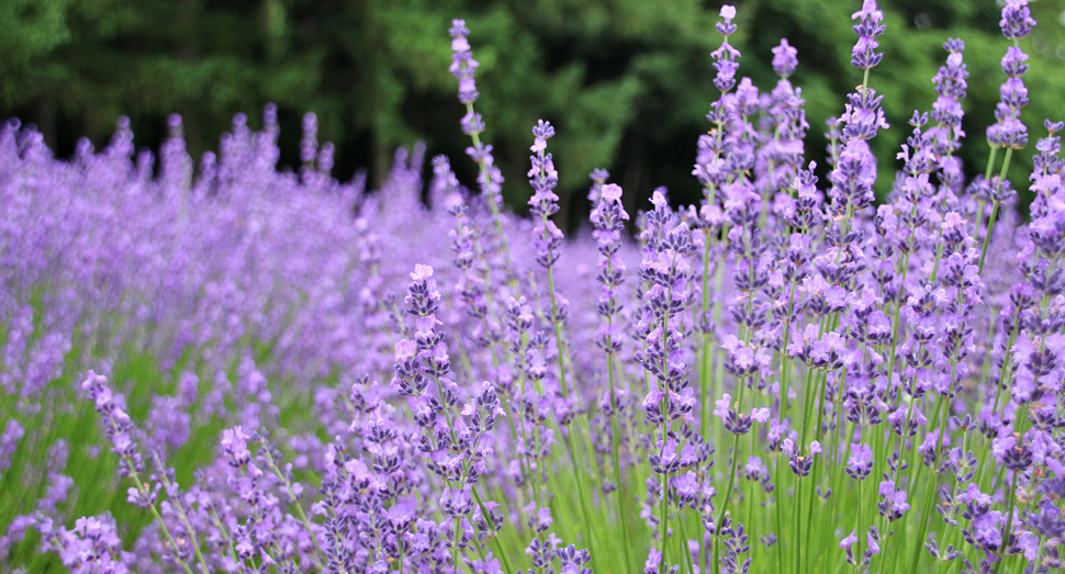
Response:
[[[887,125],[866,0],[826,139],[803,55],[782,40],[760,90],[726,5],[704,200],[627,213],[596,170],[571,237],[549,119],[527,214],[503,204],[526,182],[461,20],[469,157],[400,149],[377,190],[330,177],[313,114],[279,170],[272,106],[199,162],[177,115],[158,157],[127,120],[70,160],[7,123],[0,573],[1061,572],[1065,108],[1022,117],[1027,4],[966,134],[964,38]],[[888,128],[912,135],[877,199]]]

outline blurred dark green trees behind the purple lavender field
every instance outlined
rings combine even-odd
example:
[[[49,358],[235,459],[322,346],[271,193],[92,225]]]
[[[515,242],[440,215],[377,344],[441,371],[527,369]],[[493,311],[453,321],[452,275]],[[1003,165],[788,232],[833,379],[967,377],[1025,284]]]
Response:
[[[560,224],[586,215],[587,173],[610,170],[628,201],[642,205],[658,185],[674,202],[698,198],[690,176],[705,114],[718,98],[710,52],[719,1],[699,0],[2,0],[0,117],[35,124],[58,156],[78,138],[102,145],[128,115],[138,147],[156,149],[166,116],[180,113],[194,156],[217,147],[233,114],[256,127],[274,102],[282,164],[299,162],[300,120],[318,116],[320,140],[337,148],[334,175],[366,168],[371,185],[396,146],[423,140],[447,154],[471,183],[468,138],[456,80],[448,74],[447,29],[467,20],[481,63],[479,111],[485,138],[507,177],[506,201],[522,210],[530,128],[543,117],[560,170]],[[859,0],[739,0],[739,76],[767,90],[770,49],[781,37],[798,48],[793,81],[811,125],[807,154],[823,159],[825,120],[843,110],[861,82],[850,66],[848,16]],[[948,37],[966,43],[969,95],[962,156],[983,172],[984,128],[994,122],[999,60],[1007,47],[994,0],[894,0],[881,3],[884,60],[871,77],[892,128],[875,139],[883,196],[900,167],[895,153],[913,110],[929,110],[931,78]],[[1035,31],[1024,77],[1031,104],[1022,119],[1032,143],[1010,176],[1031,169],[1044,117],[1065,119],[1065,0],[1034,0]],[[1017,156],[1014,156],[1017,157]],[[819,161],[823,168],[823,161]],[[1027,202],[1021,201],[1024,205]]]

